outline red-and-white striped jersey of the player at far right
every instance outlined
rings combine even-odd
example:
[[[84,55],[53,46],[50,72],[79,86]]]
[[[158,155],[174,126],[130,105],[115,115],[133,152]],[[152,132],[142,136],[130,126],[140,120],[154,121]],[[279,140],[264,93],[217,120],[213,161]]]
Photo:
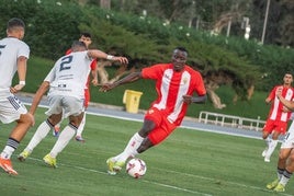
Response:
[[[290,119],[291,112],[287,113],[283,112],[283,104],[279,101],[275,93],[278,88],[283,88],[282,96],[285,100],[292,101],[294,99],[293,88],[284,88],[283,85],[275,85],[269,95],[269,99],[272,100],[269,119],[287,122]]]

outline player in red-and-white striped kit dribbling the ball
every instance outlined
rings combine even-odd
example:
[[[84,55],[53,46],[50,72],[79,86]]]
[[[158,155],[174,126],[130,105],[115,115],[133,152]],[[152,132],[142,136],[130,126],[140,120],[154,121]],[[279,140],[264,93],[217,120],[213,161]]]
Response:
[[[128,158],[163,141],[180,126],[189,104],[206,101],[202,76],[185,65],[186,58],[186,49],[177,47],[172,53],[170,64],[157,64],[144,68],[139,72],[133,72],[114,83],[101,87],[100,90],[106,92],[138,79],[151,79],[156,81],[158,94],[157,100],[145,115],[140,130],[133,135],[122,153],[106,160],[109,174],[115,175]],[[197,96],[192,96],[194,92]]]

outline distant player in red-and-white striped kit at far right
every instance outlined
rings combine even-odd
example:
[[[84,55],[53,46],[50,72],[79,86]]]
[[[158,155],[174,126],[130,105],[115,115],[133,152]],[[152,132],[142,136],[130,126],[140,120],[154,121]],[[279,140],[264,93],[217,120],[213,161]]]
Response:
[[[267,143],[267,147],[262,152],[265,162],[270,162],[271,154],[278,145],[280,135],[286,132],[287,122],[291,115],[290,109],[283,106],[275,93],[279,88],[282,88],[282,96],[286,100],[292,100],[294,97],[294,89],[291,87],[293,76],[291,73],[285,73],[283,82],[282,85],[275,85],[265,99],[265,103],[271,103],[269,117],[262,130],[262,138]],[[269,138],[270,135],[272,138]]]

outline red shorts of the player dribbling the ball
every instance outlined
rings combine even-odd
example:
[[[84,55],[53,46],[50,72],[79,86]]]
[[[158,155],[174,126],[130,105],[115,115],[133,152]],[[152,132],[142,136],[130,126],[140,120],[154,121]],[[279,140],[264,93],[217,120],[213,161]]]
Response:
[[[177,128],[177,125],[170,123],[162,112],[154,107],[147,111],[145,119],[152,120],[156,124],[156,127],[148,135],[152,145],[163,141]]]

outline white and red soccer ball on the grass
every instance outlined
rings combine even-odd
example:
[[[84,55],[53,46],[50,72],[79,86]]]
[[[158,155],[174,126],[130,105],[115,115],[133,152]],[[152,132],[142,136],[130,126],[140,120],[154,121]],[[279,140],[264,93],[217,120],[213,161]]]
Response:
[[[126,164],[126,173],[134,178],[139,178],[146,173],[147,166],[146,163],[138,159],[131,159]]]

